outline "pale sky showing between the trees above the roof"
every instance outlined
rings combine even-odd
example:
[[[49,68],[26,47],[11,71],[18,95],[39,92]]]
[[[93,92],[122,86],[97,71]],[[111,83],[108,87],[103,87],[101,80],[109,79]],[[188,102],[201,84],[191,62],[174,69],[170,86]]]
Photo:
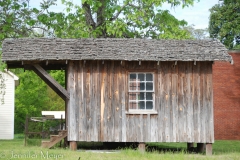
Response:
[[[195,2],[193,7],[182,7],[171,8],[171,5],[164,4],[163,9],[170,11],[179,20],[186,20],[188,25],[194,25],[195,28],[207,28],[209,21],[209,9],[218,3],[219,0],[200,0],[200,2]],[[31,7],[38,7],[41,0],[32,0],[30,1]],[[73,0],[76,4],[80,4],[80,0]],[[61,0],[57,0],[57,6],[51,7],[51,10],[54,12],[63,12],[64,6],[61,4]]]

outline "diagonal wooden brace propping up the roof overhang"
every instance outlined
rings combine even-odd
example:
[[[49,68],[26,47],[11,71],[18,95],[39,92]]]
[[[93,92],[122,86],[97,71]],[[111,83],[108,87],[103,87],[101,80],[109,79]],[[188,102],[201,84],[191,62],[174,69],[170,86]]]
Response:
[[[63,100],[70,98],[69,93],[63,88],[55,79],[53,79],[47,71],[45,71],[39,64],[34,64],[32,70],[49,86],[51,87]]]

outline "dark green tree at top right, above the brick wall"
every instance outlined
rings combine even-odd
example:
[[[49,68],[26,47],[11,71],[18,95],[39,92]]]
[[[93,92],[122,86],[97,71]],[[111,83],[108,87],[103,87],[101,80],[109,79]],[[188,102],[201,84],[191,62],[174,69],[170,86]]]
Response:
[[[228,49],[240,49],[240,2],[224,0],[210,9],[209,33]]]

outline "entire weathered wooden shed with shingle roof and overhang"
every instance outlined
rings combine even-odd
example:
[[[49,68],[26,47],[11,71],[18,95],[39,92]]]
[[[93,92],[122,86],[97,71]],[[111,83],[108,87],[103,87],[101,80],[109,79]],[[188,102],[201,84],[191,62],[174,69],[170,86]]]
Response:
[[[68,141],[214,143],[215,40],[6,39],[9,68],[34,70],[66,100]],[[66,89],[45,70],[66,70]]]

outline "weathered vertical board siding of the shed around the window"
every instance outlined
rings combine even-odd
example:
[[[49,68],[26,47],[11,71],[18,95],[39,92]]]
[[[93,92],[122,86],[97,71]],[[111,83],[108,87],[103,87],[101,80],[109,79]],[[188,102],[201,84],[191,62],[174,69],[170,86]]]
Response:
[[[157,114],[126,114],[128,71],[152,71]],[[70,61],[68,140],[214,142],[212,62]]]

